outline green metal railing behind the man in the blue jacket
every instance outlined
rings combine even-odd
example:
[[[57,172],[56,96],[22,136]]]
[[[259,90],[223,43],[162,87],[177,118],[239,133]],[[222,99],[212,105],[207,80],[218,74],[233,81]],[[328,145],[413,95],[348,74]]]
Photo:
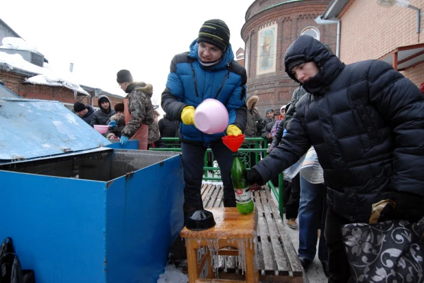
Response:
[[[164,148],[150,148],[153,151],[181,151],[180,143],[178,143],[178,138],[162,138],[165,143]],[[266,143],[267,140],[263,138],[245,138],[243,145],[239,148],[238,152],[240,159],[244,163],[246,169],[252,168],[259,160],[265,158],[266,153]],[[216,165],[216,166],[215,166]],[[207,149],[204,153],[204,166],[203,166],[203,180],[205,181],[217,181],[220,182],[221,174],[220,167],[218,167],[217,162],[214,161],[213,152],[211,149]],[[278,190],[275,188],[274,184],[271,181],[268,182],[268,187],[274,193],[274,196],[279,203],[279,212],[281,218],[283,218],[283,173],[279,175],[279,186]]]

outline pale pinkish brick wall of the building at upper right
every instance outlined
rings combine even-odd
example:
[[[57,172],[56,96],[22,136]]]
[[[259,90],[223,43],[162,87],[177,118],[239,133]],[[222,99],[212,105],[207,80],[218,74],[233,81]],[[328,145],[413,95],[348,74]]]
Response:
[[[377,59],[397,47],[424,42],[424,31],[416,33],[416,10],[397,5],[383,8],[376,2],[350,0],[338,15],[340,60],[346,64]],[[423,0],[411,0],[411,5],[424,10]],[[403,74],[419,86],[424,81],[424,66],[405,70]]]

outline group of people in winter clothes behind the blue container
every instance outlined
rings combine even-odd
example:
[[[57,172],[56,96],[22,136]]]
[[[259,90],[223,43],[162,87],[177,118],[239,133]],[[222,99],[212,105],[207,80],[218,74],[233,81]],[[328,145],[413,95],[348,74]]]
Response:
[[[138,149],[165,147],[158,125],[160,114],[154,109],[151,101],[153,86],[145,82],[134,82],[128,70],[117,73],[117,83],[127,93],[123,103],[117,103],[111,108],[110,99],[106,95],[99,95],[97,111],[94,111],[92,106],[77,101],[73,105],[73,112],[92,127],[108,125],[110,128],[104,136],[119,139],[119,143],[123,146],[132,138],[138,140]],[[167,134],[170,131],[168,129]],[[177,128],[174,129],[174,136],[178,136]]]

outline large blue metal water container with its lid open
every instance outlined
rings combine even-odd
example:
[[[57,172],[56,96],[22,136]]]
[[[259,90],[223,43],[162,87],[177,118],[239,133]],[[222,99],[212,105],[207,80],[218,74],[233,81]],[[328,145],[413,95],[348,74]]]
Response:
[[[57,101],[0,99],[0,125],[0,239],[23,269],[40,283],[156,282],[183,225],[178,153],[108,148]]]

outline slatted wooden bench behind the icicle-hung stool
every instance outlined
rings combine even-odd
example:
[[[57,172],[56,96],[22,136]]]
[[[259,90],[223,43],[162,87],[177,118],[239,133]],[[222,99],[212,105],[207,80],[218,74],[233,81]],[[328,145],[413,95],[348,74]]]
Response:
[[[261,190],[252,193],[258,212],[257,254],[260,282],[307,282],[270,190],[263,186]],[[222,186],[203,184],[202,200],[205,209],[224,207]],[[241,270],[235,267],[234,258],[228,256],[222,262],[220,278],[240,279]]]

